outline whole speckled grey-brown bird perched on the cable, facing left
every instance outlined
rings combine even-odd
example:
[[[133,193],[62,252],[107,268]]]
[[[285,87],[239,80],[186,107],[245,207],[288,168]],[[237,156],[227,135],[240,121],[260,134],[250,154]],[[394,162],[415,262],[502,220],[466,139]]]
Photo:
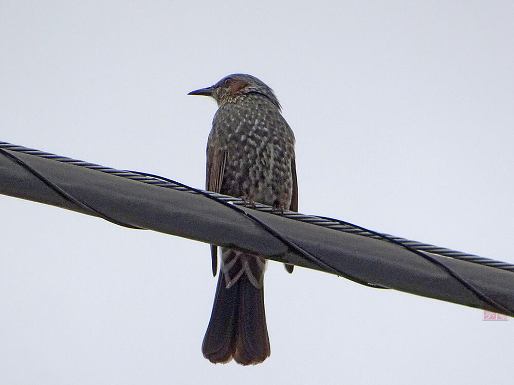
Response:
[[[189,92],[212,97],[214,114],[207,141],[206,190],[263,203],[273,210],[298,211],[295,136],[282,107],[264,82],[234,73],[216,84]],[[212,272],[217,245],[211,245]],[[255,365],[270,356],[264,311],[267,260],[258,254],[221,247],[216,293],[202,353],[212,363],[234,359]],[[293,265],[285,264],[292,273]]]

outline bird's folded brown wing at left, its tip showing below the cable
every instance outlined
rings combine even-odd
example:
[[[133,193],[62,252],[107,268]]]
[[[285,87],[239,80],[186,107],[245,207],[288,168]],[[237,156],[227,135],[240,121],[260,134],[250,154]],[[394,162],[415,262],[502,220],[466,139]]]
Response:
[[[205,189],[219,192],[223,183],[223,172],[227,161],[227,151],[218,146],[207,145],[207,168],[205,175]],[[218,268],[218,246],[211,245],[212,275],[216,276]]]

